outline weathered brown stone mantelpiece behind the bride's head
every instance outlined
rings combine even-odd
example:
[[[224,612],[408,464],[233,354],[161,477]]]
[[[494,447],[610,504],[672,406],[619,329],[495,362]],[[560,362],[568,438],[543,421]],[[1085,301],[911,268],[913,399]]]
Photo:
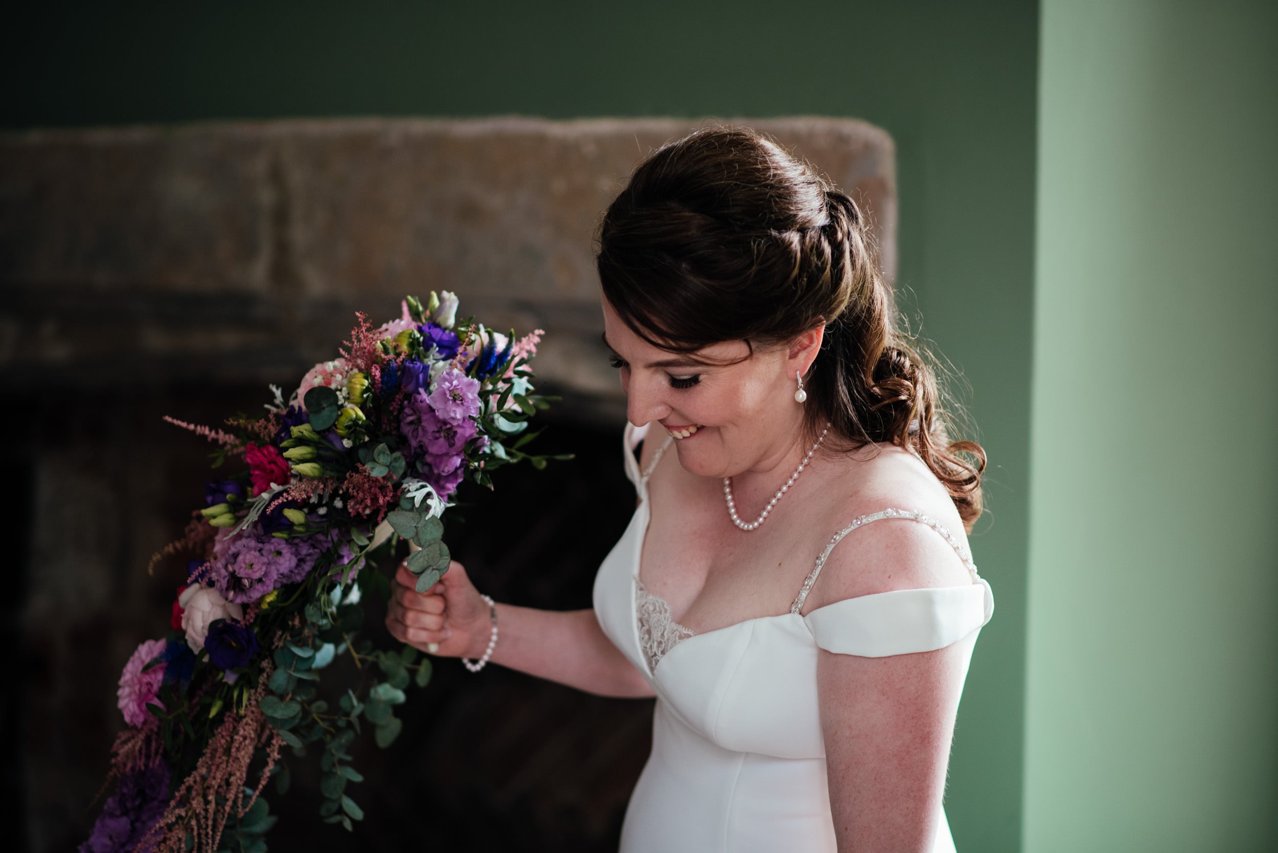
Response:
[[[891,139],[849,119],[743,121],[870,212],[896,268]],[[592,243],[686,120],[290,120],[0,135],[0,370],[73,384],[280,382],[353,313],[455,290],[548,335],[538,373],[620,412]]]

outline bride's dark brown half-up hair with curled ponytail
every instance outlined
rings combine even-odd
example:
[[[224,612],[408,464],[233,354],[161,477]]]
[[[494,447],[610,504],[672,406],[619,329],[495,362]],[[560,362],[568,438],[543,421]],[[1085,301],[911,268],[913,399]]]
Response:
[[[911,449],[969,529],[980,516],[985,452],[948,439],[934,370],[896,328],[865,217],[772,139],[708,128],[657,151],[608,207],[597,262],[621,319],[667,351],[744,340],[753,352],[824,322],[804,377],[809,434],[829,421],[849,448]]]

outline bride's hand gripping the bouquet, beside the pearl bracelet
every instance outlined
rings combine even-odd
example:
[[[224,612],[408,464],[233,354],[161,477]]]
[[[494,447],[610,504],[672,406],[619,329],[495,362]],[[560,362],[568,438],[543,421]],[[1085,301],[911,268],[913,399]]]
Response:
[[[417,591],[417,576],[401,562],[395,571],[386,628],[400,642],[445,658],[479,658],[492,636],[488,604],[459,562],[449,563],[440,582]],[[428,645],[438,644],[431,649]]]

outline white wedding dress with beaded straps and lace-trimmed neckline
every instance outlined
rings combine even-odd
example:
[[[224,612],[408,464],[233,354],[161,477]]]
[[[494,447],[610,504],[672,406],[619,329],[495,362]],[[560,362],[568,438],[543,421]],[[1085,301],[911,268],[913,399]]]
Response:
[[[639,582],[648,478],[639,471],[634,448],[645,432],[626,425],[626,475],[639,504],[594,582],[599,624],[657,693],[652,756],[626,810],[621,853],[832,853],[818,649],[883,658],[962,641],[966,677],[973,644],[994,610],[989,584],[934,520],[886,510],[835,534],[789,613],[695,635],[675,623],[670,607]],[[973,584],[864,595],[800,615],[833,547],[882,518],[937,530],[964,559]],[[944,811],[939,819],[932,849],[952,852]]]

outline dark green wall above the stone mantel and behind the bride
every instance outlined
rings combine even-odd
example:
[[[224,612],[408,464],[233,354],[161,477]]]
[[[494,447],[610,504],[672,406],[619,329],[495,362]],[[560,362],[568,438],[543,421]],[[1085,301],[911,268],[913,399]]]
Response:
[[[234,117],[856,116],[896,139],[902,305],[971,387],[998,612],[958,715],[960,849],[1021,835],[1038,4],[28,4],[9,128]],[[814,540],[815,541],[815,540]]]

